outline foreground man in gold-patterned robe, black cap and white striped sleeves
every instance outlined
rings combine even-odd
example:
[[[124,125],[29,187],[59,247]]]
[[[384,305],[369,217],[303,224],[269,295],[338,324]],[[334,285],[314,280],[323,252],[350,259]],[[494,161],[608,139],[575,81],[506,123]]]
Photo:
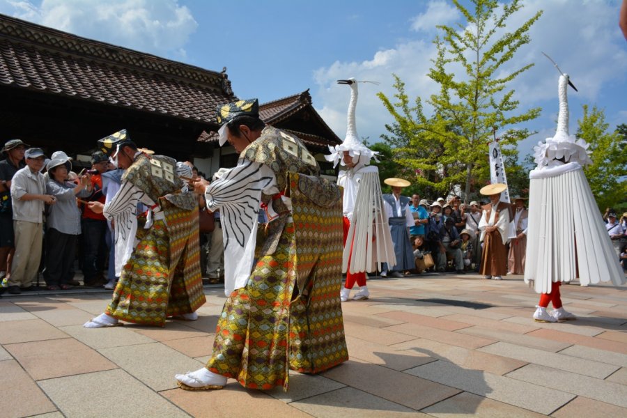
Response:
[[[288,387],[288,371],[318,373],[348,359],[339,297],[342,203],[293,134],[265,126],[258,102],[218,108],[220,144],[238,165],[209,184],[224,237],[224,304],[213,353],[202,369],[176,375],[183,389]],[[260,204],[268,223],[258,228]]]

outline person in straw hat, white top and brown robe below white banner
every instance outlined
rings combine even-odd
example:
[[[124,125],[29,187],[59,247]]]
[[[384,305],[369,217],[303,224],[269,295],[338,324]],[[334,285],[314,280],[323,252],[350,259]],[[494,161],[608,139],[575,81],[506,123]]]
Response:
[[[483,206],[479,231],[483,242],[481,268],[479,273],[486,279],[501,280],[507,274],[507,231],[511,206],[501,200],[501,193],[507,188],[502,183],[483,187],[479,193],[490,197],[490,203]]]

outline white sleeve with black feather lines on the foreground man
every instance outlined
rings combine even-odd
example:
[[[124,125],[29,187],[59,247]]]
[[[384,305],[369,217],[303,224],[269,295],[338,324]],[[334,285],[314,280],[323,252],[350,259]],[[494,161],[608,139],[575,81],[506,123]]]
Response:
[[[276,183],[269,167],[242,159],[205,190],[207,208],[219,209],[222,219],[227,296],[246,286],[254,259],[261,193],[278,192]]]

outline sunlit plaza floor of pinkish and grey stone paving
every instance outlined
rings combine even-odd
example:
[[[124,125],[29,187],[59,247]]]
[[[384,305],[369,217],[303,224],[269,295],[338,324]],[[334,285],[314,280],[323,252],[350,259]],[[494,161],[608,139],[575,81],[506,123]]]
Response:
[[[290,390],[185,392],[211,353],[221,288],[196,322],[87,330],[104,291],[0,300],[1,417],[627,417],[627,286],[562,286],[568,323],[535,323],[520,276],[371,279],[343,306],[350,361]]]

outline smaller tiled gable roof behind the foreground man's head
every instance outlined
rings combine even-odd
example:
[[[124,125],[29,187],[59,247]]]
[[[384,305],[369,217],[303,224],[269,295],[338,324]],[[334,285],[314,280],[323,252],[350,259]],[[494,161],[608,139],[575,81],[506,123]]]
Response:
[[[295,95],[291,95],[287,98],[282,98],[279,100],[274,100],[272,102],[263,103],[259,105],[259,117],[262,121],[267,123],[268,125],[276,126],[278,123],[286,121],[286,119],[290,118],[298,111],[309,107],[309,114],[311,114],[316,121],[320,123],[327,131],[328,137],[321,137],[320,135],[310,134],[307,132],[299,132],[296,130],[286,129],[285,127],[281,127],[282,130],[286,130],[288,132],[292,132],[297,137],[299,137],[305,144],[314,145],[314,146],[324,146],[340,144],[341,140],[336,136],[336,134],[331,130],[331,128],[325,123],[323,118],[320,118],[320,115],[311,105],[311,95],[309,94],[309,89],[303,91],[302,93],[298,93]],[[216,132],[204,132],[200,135],[199,141],[201,142],[214,142],[217,141],[217,133]]]

